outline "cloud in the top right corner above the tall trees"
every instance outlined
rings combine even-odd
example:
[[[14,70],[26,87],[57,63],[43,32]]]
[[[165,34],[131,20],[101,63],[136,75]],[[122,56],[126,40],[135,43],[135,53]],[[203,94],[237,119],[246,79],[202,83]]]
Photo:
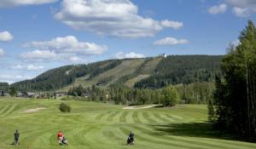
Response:
[[[225,0],[225,2],[233,7],[232,12],[238,17],[248,17],[251,14],[256,14],[255,0]]]

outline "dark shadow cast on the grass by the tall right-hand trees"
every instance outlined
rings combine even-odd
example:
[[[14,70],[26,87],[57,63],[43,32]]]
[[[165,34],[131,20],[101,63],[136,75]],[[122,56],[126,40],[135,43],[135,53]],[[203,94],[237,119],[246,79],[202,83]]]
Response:
[[[151,125],[156,130],[155,135],[177,135],[201,137],[222,140],[241,140],[254,142],[255,140],[245,139],[244,137],[231,135],[228,132],[217,131],[212,127],[212,123],[172,123],[165,125]]]

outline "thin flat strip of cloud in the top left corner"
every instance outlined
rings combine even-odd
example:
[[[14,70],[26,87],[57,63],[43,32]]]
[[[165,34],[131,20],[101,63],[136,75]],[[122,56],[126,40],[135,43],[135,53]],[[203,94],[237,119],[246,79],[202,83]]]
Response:
[[[11,8],[17,6],[26,6],[26,5],[38,5],[44,3],[54,3],[58,0],[1,0],[0,8]]]

